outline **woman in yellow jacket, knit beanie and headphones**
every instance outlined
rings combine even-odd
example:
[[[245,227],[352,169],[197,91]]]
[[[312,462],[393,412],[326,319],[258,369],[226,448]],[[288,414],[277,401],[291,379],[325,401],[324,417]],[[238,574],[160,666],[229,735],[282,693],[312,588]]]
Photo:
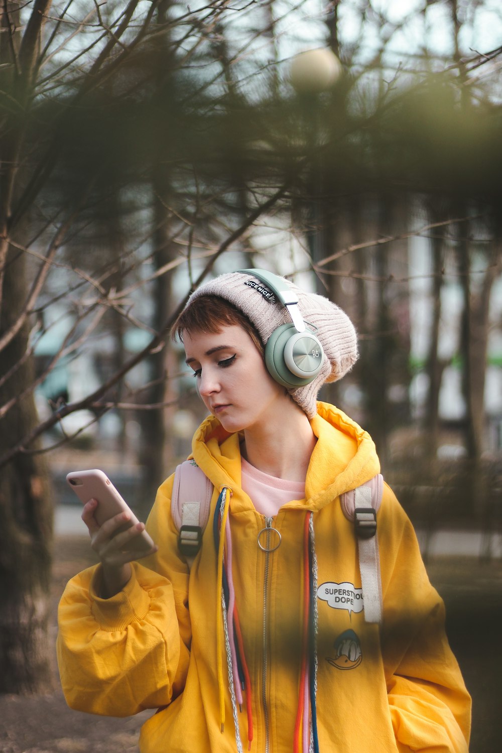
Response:
[[[210,413],[192,454],[214,486],[209,524],[190,569],[169,477],[147,523],[157,548],[140,564],[121,547],[141,524],[113,538],[120,516],[99,528],[96,502],[85,505],[101,563],[70,581],[59,609],[68,704],[159,709],[141,753],[466,753],[470,698],[443,602],[388,487],[377,517],[383,620],[365,619],[340,498],[379,460],[365,431],[316,403],[357,359],[348,317],[241,270],[195,291],[174,331]]]

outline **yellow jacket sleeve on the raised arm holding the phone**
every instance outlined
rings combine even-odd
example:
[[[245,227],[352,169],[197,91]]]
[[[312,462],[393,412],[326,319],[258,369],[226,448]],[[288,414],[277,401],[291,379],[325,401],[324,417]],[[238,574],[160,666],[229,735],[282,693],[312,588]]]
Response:
[[[190,658],[186,563],[172,523],[172,477],[163,483],[147,529],[159,551],[132,563],[111,599],[99,593],[100,566],[72,578],[59,603],[56,653],[72,709],[129,716],[166,706],[184,687]]]

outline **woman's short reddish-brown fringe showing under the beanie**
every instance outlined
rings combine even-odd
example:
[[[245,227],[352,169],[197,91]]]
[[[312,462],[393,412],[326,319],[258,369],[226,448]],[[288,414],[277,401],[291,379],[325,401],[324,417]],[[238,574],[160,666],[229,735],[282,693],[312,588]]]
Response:
[[[245,330],[263,355],[265,348],[257,329],[247,316],[229,300],[219,295],[199,295],[183,309],[171,329],[171,337],[183,342],[184,332],[221,332],[224,327],[238,325]]]

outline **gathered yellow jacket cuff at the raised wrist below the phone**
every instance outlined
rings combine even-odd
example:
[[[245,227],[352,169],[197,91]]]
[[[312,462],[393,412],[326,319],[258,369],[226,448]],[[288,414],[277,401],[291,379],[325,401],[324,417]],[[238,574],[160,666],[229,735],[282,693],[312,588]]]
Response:
[[[135,575],[134,564],[131,562],[132,575],[123,589],[111,596],[110,599],[102,599],[99,594],[101,583],[101,566],[96,567],[90,582],[91,611],[96,622],[102,630],[114,632],[126,630],[133,622],[144,620],[150,608],[150,596],[141,588]]]

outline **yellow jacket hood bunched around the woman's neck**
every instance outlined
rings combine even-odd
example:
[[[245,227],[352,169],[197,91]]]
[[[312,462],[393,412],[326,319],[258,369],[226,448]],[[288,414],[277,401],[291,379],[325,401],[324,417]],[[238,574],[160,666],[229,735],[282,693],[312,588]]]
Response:
[[[318,402],[317,407],[310,424],[318,441],[307,471],[305,498],[285,508],[321,510],[380,471],[370,434],[333,405]],[[214,416],[208,416],[193,436],[191,457],[218,489],[241,486],[240,441],[242,434],[229,434]]]

